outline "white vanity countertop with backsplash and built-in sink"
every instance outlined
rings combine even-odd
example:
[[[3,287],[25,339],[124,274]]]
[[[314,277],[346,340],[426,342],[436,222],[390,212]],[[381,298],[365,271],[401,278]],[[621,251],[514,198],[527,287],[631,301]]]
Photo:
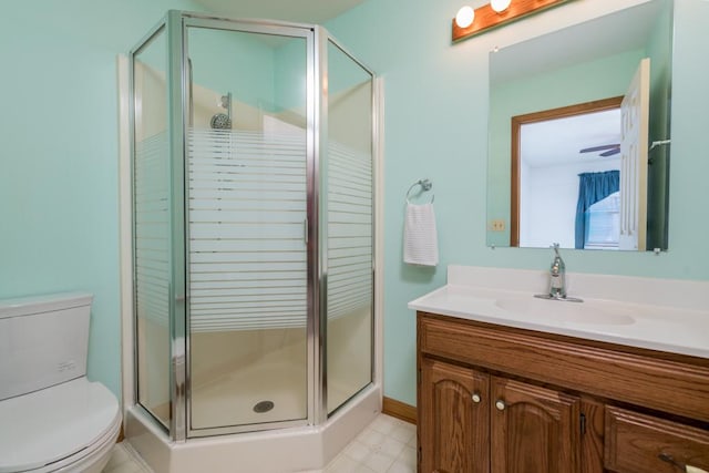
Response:
[[[567,280],[571,275],[567,275]],[[409,302],[409,308],[481,322],[709,358],[709,282],[575,275],[569,297],[584,302],[534,298],[545,274],[500,268],[450,267],[449,284]],[[585,297],[589,282],[593,297]],[[604,294],[598,278],[608,278]],[[595,286],[594,286],[595,285]],[[624,287],[625,286],[625,287]],[[656,287],[657,286],[657,287]],[[675,287],[677,286],[677,287]],[[644,287],[644,290],[636,290]],[[659,289],[664,290],[659,290]],[[659,292],[659,296],[658,296]],[[670,294],[668,294],[670,292]],[[675,296],[676,305],[666,304]],[[627,297],[623,297],[623,295]],[[638,300],[641,299],[641,300]],[[647,302],[646,302],[647,301]],[[649,302],[649,304],[648,304]],[[665,304],[662,304],[665,302]]]

